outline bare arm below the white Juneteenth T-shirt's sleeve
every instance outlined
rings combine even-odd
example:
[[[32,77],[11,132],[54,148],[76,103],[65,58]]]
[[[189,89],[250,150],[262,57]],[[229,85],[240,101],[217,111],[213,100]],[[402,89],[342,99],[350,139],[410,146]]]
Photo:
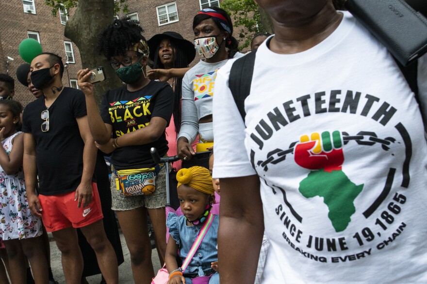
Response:
[[[259,177],[221,179],[219,212],[220,283],[254,283],[264,231]]]

